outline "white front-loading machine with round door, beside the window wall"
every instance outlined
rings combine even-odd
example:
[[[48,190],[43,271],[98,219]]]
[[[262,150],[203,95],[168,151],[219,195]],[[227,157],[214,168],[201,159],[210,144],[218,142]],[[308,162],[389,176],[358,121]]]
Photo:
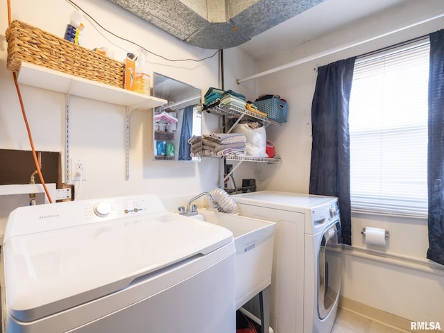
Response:
[[[273,330],[331,332],[343,271],[337,198],[282,191],[232,198],[241,214],[276,223],[271,275]]]

